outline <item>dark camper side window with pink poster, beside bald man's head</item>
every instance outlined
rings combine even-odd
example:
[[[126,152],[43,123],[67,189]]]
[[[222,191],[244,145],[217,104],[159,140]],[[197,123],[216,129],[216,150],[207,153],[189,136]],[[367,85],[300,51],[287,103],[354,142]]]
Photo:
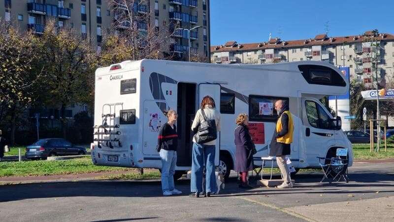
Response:
[[[257,122],[275,122],[278,114],[275,110],[275,102],[283,100],[289,104],[289,98],[270,96],[249,96],[249,120]]]

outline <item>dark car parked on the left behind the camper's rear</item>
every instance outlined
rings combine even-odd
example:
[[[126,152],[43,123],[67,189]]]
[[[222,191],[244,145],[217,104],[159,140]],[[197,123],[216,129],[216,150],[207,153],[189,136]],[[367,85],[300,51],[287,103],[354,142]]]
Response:
[[[26,147],[25,157],[28,159],[45,159],[48,156],[84,155],[86,149],[75,147],[65,139],[41,139]]]

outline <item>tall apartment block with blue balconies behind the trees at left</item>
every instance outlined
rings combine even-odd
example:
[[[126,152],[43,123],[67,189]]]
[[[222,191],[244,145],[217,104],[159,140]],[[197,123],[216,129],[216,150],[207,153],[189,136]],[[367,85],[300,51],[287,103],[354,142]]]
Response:
[[[114,12],[111,0],[0,0],[0,18],[12,22],[21,31],[31,29],[41,35],[48,19],[54,18],[59,27],[71,27],[80,31],[100,46],[103,33],[112,32]],[[189,35],[185,29],[199,26],[190,33],[194,56],[209,56],[209,0],[140,0],[134,2],[133,11],[146,14],[147,22],[156,29],[172,29],[168,53],[175,59],[187,60]],[[135,6],[135,7],[134,7]],[[176,24],[171,26],[170,24]],[[117,31],[130,24],[117,24]],[[170,28],[168,28],[170,27]],[[138,23],[138,30],[147,31],[146,22]]]

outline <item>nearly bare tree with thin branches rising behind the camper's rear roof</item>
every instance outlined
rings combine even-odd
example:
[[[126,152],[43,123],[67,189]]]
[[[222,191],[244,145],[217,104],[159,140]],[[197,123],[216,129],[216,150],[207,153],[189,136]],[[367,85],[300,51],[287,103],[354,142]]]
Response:
[[[166,53],[169,49],[173,24],[163,24],[160,29],[155,21],[151,21],[148,0],[109,0],[114,14],[111,33],[104,40],[100,65],[120,62],[119,59],[171,59],[173,55]],[[112,51],[112,52],[111,52]],[[113,52],[117,52],[115,54]],[[119,55],[119,53],[121,53]]]

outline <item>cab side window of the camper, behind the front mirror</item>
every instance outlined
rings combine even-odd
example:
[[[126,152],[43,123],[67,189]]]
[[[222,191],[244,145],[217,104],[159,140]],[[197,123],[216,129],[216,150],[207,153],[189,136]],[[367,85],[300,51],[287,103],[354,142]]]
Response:
[[[312,127],[320,129],[334,129],[331,117],[323,107],[314,101],[305,101],[306,116]]]

